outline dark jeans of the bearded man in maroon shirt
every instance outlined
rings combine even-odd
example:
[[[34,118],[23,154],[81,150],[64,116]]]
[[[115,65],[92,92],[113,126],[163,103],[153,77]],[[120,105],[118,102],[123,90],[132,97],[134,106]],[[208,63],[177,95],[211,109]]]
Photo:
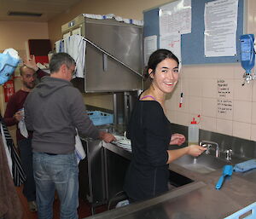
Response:
[[[33,176],[32,167],[32,139],[22,139],[18,141],[20,149],[20,161],[26,174],[26,182],[24,182],[23,194],[27,201],[36,200],[36,185]]]

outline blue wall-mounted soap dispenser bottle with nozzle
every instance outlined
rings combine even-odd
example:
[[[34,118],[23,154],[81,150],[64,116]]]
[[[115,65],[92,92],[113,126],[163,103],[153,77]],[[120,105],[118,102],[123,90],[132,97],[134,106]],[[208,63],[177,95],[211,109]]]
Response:
[[[243,75],[244,85],[256,79],[255,74],[252,75],[252,68],[255,62],[255,51],[254,51],[254,35],[245,34],[240,37],[240,48],[241,48],[241,66],[246,71]]]

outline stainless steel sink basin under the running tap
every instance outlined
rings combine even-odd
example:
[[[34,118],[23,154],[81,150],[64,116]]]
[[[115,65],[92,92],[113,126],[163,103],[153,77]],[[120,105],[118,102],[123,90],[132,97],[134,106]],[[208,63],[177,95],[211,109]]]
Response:
[[[221,169],[226,164],[232,164],[233,162],[215,158],[212,155],[203,153],[199,157],[184,155],[172,163],[178,164],[187,170],[195,171],[201,174],[207,174],[214,170]]]

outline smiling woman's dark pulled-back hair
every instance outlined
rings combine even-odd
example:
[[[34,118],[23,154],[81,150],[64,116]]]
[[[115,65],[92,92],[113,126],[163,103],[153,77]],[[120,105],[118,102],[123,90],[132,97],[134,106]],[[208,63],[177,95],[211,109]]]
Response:
[[[148,66],[145,66],[144,68],[144,78],[147,79],[149,77],[148,75],[148,69],[153,70],[153,74],[155,71],[156,66],[166,59],[172,59],[174,61],[177,61],[177,66],[179,64],[177,57],[168,49],[157,49],[154,51],[153,54],[149,56],[148,59]]]

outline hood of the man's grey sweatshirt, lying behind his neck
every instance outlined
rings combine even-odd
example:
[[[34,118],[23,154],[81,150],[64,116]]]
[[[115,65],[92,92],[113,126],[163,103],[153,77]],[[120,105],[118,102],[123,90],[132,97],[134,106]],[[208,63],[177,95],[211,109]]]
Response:
[[[38,90],[38,94],[41,97],[47,97],[54,93],[57,89],[62,89],[63,87],[73,86],[71,82],[61,79],[46,76],[42,78],[41,83],[39,83],[35,89]]]

